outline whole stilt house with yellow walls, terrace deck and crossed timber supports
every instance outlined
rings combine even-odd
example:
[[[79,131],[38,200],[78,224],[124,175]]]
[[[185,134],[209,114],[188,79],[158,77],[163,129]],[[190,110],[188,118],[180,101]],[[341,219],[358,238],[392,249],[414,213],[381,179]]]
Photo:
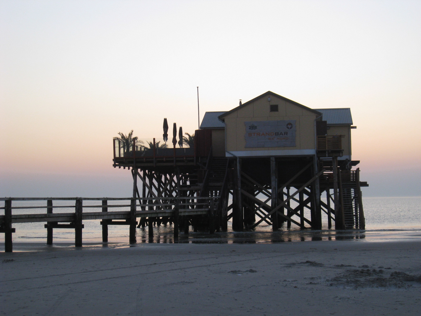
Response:
[[[364,229],[367,183],[353,169],[359,161],[352,160],[352,124],[349,108],[311,109],[268,91],[232,110],[206,112],[194,148],[121,155],[119,145],[117,155],[115,144],[114,167],[133,169],[142,183],[139,197],[182,198],[192,210],[209,198],[207,214],[181,220],[185,232],[190,225],[218,231],[231,223],[236,231]]]

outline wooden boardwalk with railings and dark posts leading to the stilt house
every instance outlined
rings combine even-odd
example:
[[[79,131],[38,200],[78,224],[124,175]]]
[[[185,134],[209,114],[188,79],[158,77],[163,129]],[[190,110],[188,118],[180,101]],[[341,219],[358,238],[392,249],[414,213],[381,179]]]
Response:
[[[12,252],[13,223],[46,222],[47,244],[53,243],[53,228],[75,229],[75,246],[82,246],[83,220],[101,220],[102,241],[108,241],[108,225],[128,225],[129,242],[136,243],[136,218],[168,217],[174,223],[174,239],[178,238],[179,216],[209,215],[219,197],[149,197],[149,198],[0,198],[4,201],[4,215],[0,215],[0,233],[5,233],[5,252]],[[13,206],[13,201],[46,201],[42,206]],[[54,201],[74,201],[73,205],[53,205]],[[83,205],[83,201],[101,201],[98,205]],[[109,201],[121,201],[109,204]],[[57,203],[57,202],[56,202]],[[75,212],[54,213],[53,209],[74,208]],[[109,209],[129,210],[109,211]],[[16,209],[45,209],[42,214],[13,214]],[[83,209],[101,209],[101,212],[83,212]],[[62,224],[62,223],[67,224]],[[151,220],[148,221],[152,231]],[[61,224],[60,224],[61,223]],[[150,234],[149,234],[150,236]]]

